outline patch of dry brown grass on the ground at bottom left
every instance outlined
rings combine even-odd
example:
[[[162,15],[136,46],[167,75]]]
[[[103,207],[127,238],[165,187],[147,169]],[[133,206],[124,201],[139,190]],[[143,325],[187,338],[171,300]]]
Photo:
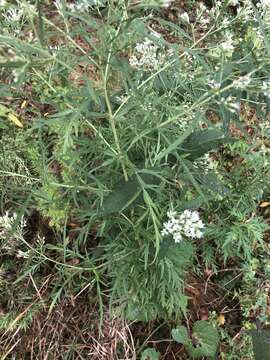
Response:
[[[65,299],[50,314],[48,309],[38,312],[26,332],[9,332],[2,337],[2,352],[31,360],[136,359],[129,325],[111,318],[108,311],[101,329],[99,321],[98,309],[86,296]]]

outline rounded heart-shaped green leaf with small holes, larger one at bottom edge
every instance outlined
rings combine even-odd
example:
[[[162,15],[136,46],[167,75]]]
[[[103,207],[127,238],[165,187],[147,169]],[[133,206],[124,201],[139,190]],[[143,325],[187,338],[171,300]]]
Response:
[[[207,321],[196,321],[192,331],[192,343],[187,344],[187,351],[190,356],[194,359],[203,356],[215,358],[218,344],[217,329]]]

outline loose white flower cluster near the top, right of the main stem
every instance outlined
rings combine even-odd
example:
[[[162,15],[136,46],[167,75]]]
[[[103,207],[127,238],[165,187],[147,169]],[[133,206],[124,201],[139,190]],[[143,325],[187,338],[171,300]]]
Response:
[[[155,70],[165,62],[165,55],[158,53],[159,47],[152,40],[145,38],[143,43],[135,46],[136,55],[132,55],[129,63],[132,67],[144,70]]]

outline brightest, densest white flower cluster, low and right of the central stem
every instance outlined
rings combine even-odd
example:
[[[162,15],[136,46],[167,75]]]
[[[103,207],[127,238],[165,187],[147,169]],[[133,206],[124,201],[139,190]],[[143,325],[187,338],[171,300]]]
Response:
[[[200,239],[203,237],[204,224],[197,211],[185,210],[182,214],[168,211],[169,220],[163,224],[162,236],[171,235],[176,243],[183,237]]]

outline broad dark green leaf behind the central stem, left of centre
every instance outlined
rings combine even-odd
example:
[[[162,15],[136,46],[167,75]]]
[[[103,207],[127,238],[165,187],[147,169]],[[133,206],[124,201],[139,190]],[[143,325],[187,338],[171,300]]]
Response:
[[[156,186],[161,182],[161,179],[153,175],[153,173],[140,173],[139,177],[147,187]],[[143,203],[143,186],[142,182],[139,181],[139,177],[134,175],[128,181],[118,183],[116,189],[105,198],[101,208],[101,215],[122,212],[135,204]]]

